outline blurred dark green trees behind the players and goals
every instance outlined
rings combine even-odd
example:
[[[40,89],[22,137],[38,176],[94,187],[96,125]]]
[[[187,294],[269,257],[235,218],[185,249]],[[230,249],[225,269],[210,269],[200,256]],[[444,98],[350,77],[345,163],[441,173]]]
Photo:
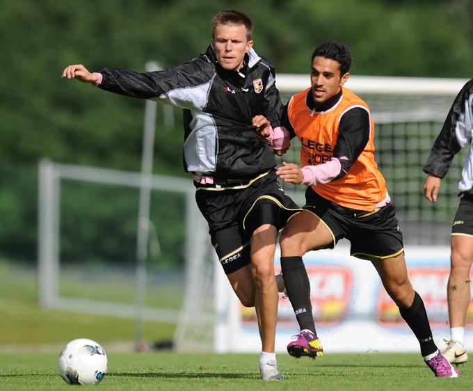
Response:
[[[472,77],[472,0],[3,0],[0,257],[36,260],[41,158],[141,168],[144,102],[62,80],[64,67],[83,63],[90,70],[111,66],[144,71],[149,60],[163,67],[177,65],[205,51],[212,17],[232,8],[252,17],[255,49],[279,73],[308,73],[314,47],[323,40],[341,40],[353,51],[352,74]],[[179,120],[175,128],[166,127],[162,111],[158,114],[154,173],[185,175]],[[64,229],[88,241],[86,246],[61,243],[65,259],[133,259],[136,210],[125,206],[125,198],[137,205],[136,193],[112,192],[103,205],[97,202],[103,195],[77,187],[64,205],[65,220],[74,225]],[[177,209],[182,204],[173,203]],[[108,223],[79,221],[92,214],[106,216]],[[126,223],[123,215],[129,216]],[[157,216],[154,211],[154,218],[182,216]],[[106,243],[100,233],[111,227],[115,241]],[[170,248],[176,248],[182,239],[179,228],[163,231]]]

